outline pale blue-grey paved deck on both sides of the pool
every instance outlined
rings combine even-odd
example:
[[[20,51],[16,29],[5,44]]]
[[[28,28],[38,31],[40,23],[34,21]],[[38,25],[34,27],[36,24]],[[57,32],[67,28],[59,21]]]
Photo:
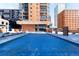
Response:
[[[26,34],[26,33],[25,33]],[[8,37],[2,37],[0,38],[0,44],[4,43],[4,42],[7,42],[7,41],[10,41],[10,40],[13,40],[15,38],[18,38],[18,37],[21,37],[21,36],[24,36],[25,35],[24,33],[23,34],[19,34],[19,35],[13,35],[13,36],[8,36]],[[51,34],[51,33],[49,33]],[[2,34],[0,34],[2,35]],[[63,36],[62,34],[51,34],[53,36],[57,36],[57,37],[60,37],[60,38],[63,38],[65,40],[68,40],[68,41],[71,41],[71,42],[74,42],[74,43],[77,43],[79,44],[79,34],[70,34],[69,36]]]

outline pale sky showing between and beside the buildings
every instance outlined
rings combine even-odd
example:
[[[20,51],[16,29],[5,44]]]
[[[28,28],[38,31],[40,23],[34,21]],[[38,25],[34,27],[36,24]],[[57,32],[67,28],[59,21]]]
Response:
[[[54,8],[56,7],[56,3],[51,3],[49,6],[49,11],[50,11],[50,16],[51,16],[51,22],[52,22],[52,27],[54,26]],[[78,3],[67,3],[66,9],[79,9],[79,4]],[[0,9],[18,9],[19,4],[18,3],[0,3]]]

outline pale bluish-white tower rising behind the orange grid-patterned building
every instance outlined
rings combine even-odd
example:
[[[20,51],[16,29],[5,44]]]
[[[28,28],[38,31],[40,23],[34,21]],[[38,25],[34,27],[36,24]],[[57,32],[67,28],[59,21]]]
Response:
[[[57,28],[57,23],[58,23],[58,14],[62,12],[66,8],[64,3],[56,4],[54,8],[54,27]]]

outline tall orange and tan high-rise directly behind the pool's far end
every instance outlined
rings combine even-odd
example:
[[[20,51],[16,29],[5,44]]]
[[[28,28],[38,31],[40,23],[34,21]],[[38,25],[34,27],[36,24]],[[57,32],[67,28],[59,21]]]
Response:
[[[51,31],[48,3],[21,3],[19,8],[17,24],[22,26],[22,31]]]

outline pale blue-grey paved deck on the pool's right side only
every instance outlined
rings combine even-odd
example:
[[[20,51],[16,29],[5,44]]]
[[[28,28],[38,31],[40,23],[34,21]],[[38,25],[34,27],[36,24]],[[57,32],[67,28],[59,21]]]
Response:
[[[79,44],[79,34],[70,34],[69,36],[63,36],[63,34],[52,34],[52,35]]]

